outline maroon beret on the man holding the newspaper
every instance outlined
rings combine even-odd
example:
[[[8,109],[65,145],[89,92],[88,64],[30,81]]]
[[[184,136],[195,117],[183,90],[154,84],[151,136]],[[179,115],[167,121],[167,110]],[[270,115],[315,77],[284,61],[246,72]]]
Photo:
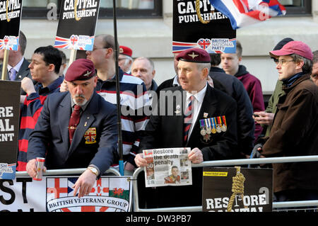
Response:
[[[177,55],[176,60],[195,63],[210,63],[211,58],[206,50],[193,48],[180,52],[179,55]]]

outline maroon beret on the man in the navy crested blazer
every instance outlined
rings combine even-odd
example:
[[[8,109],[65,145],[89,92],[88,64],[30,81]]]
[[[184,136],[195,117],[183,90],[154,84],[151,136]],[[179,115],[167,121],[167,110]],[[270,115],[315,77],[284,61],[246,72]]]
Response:
[[[95,75],[95,67],[91,60],[78,59],[74,61],[66,71],[65,80],[88,80]]]

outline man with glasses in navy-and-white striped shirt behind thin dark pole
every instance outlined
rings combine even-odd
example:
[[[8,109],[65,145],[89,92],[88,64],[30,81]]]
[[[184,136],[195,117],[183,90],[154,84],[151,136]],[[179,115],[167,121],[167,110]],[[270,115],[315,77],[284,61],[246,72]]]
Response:
[[[119,48],[118,48],[119,49]],[[112,35],[97,35],[93,51],[86,51],[86,58],[91,60],[97,70],[98,84],[95,91],[106,101],[117,104],[115,42]],[[143,81],[119,69],[120,105],[122,113],[122,140],[124,174],[132,175],[136,164],[134,157],[139,147],[141,132],[148,122],[146,107],[150,106],[146,86]],[[150,114],[150,112],[149,112]]]

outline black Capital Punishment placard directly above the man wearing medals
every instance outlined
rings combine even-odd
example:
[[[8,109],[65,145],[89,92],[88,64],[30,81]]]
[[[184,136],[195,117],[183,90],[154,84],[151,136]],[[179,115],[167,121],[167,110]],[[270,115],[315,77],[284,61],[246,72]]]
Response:
[[[236,51],[236,30],[208,0],[173,1],[172,39],[173,53],[194,47],[209,53]]]

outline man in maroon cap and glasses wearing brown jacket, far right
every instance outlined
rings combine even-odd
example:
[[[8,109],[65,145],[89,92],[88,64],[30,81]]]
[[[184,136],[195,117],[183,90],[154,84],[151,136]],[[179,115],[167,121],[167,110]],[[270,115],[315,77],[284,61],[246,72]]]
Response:
[[[269,54],[278,60],[278,79],[285,94],[278,99],[271,132],[259,150],[265,157],[317,155],[318,87],[310,80],[312,50],[291,41]],[[274,200],[318,200],[317,171],[317,162],[273,164]]]

